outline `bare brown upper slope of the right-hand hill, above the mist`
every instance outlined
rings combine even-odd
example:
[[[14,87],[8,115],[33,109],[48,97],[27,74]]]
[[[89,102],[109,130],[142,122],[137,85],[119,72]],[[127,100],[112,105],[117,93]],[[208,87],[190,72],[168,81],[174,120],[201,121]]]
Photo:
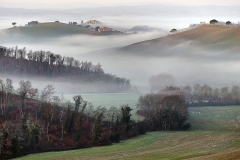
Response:
[[[240,27],[223,27],[203,25],[185,32],[135,43],[119,51],[141,55],[165,55],[176,51],[186,54],[189,51],[211,49],[218,52],[240,50]],[[194,48],[191,48],[194,47]],[[189,50],[190,49],[190,50]]]

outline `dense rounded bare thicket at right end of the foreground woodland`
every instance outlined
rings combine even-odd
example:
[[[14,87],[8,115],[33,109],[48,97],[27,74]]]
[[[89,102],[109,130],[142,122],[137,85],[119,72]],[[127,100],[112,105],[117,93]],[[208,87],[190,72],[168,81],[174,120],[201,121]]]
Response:
[[[190,127],[183,95],[151,93],[140,96],[138,114],[144,116],[148,130],[187,130]]]

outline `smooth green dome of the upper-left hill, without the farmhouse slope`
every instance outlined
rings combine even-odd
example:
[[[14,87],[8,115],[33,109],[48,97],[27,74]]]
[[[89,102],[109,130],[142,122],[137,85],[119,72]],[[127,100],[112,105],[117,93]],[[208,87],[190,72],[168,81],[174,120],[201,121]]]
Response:
[[[73,34],[91,34],[92,30],[83,26],[69,25],[59,22],[40,23],[32,26],[13,27],[3,30],[5,34],[11,36],[24,37],[60,37]]]

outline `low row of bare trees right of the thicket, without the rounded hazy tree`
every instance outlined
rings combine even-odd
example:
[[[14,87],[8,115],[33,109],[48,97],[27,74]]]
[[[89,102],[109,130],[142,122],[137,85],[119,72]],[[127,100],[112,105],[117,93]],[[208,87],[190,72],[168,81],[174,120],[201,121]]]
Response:
[[[162,91],[165,94],[182,93],[188,106],[225,106],[240,105],[240,86],[224,86],[212,88],[207,84],[195,84],[193,87],[165,87]]]

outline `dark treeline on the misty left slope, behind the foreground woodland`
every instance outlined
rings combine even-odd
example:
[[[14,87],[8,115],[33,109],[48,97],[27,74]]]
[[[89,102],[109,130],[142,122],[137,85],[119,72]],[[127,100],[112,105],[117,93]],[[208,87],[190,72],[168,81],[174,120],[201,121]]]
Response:
[[[97,83],[99,92],[122,92],[130,89],[130,80],[104,73],[101,64],[80,62],[45,51],[27,52],[0,46],[0,73],[20,77],[46,77],[58,82]]]

